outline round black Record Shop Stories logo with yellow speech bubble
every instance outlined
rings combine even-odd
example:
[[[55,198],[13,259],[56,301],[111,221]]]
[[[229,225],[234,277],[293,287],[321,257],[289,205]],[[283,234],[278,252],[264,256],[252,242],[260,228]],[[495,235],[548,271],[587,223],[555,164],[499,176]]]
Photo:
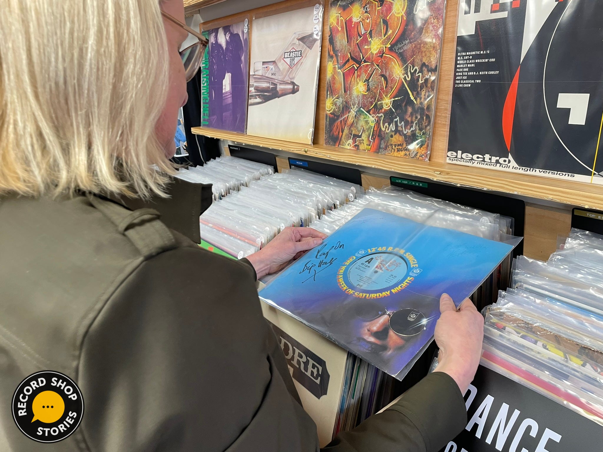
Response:
[[[83,415],[80,388],[60,372],[31,374],[14,391],[14,422],[34,441],[62,441],[75,432]]]

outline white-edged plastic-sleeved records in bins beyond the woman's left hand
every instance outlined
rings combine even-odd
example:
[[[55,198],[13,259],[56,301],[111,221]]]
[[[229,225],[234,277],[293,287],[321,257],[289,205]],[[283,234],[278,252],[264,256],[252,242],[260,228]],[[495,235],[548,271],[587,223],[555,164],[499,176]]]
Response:
[[[180,173],[214,183],[215,202],[200,218],[201,239],[236,259],[261,250],[286,227],[308,226],[364,192],[303,169],[274,174],[271,166],[236,157]]]

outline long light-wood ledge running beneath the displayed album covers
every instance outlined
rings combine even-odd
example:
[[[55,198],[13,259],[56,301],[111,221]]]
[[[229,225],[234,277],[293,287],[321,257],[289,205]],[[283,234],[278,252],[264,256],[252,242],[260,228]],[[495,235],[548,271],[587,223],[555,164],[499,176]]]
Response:
[[[345,162],[352,165],[376,168],[392,173],[424,177],[433,181],[452,183],[496,192],[513,193],[529,198],[561,202],[587,209],[603,208],[603,187],[581,182],[561,181],[534,175],[514,174],[472,166],[451,165],[444,162],[422,162],[403,159],[392,155],[370,154],[353,149],[333,148],[323,145],[255,137],[241,133],[206,127],[194,127],[192,133],[221,140],[230,140],[241,145],[261,146],[267,149],[294,152],[320,159]],[[395,174],[392,174],[395,175]],[[571,184],[571,187],[567,187]],[[560,185],[563,185],[561,187]]]

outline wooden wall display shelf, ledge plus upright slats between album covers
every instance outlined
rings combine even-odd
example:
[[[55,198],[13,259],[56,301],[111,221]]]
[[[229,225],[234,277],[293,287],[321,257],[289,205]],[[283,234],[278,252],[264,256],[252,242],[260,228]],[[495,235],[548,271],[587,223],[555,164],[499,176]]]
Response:
[[[324,49],[328,46],[329,20],[323,20],[323,51],[321,52],[320,73],[318,78],[318,96],[313,145],[266,139],[210,128],[197,127],[193,128],[192,131],[195,134],[223,140],[232,140],[233,142],[242,145],[247,144],[262,146],[267,149],[280,149],[282,151],[295,152],[297,154],[333,160],[335,162],[351,163],[353,165],[360,165],[368,168],[379,168],[391,172],[392,175],[396,175],[396,173],[406,174],[467,187],[515,193],[529,198],[546,199],[549,201],[571,204],[573,206],[603,210],[603,186],[446,163],[450,105],[452,103],[452,86],[456,57],[456,19],[458,16],[458,1],[459,0],[447,0],[446,2],[446,20],[444,22],[444,37],[440,61],[440,80],[438,83],[429,162],[324,145],[327,67],[327,52],[324,51]],[[279,10],[279,8],[294,4],[295,2],[296,0],[288,0],[258,8],[257,10],[251,11],[251,16],[253,16],[253,14],[266,14],[270,11],[276,11]],[[232,16],[224,17],[219,20],[222,22],[242,20],[242,17],[247,17],[247,14],[250,14],[250,11],[233,14]],[[324,17],[329,17],[329,1],[324,2]],[[213,22],[202,23],[201,28],[212,28]],[[251,22],[251,39],[253,39],[253,20]],[[484,114],[487,115],[488,112],[484,111]],[[484,146],[487,145],[488,143],[484,143]]]

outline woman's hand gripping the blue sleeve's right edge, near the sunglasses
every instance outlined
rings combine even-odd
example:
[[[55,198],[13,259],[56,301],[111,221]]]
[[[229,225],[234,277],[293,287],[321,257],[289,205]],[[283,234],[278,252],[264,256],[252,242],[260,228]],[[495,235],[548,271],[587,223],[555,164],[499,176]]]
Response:
[[[484,318],[468,298],[457,311],[446,293],[440,298],[440,312],[440,319],[435,324],[435,342],[440,347],[435,371],[450,375],[464,395],[478,370]]]

